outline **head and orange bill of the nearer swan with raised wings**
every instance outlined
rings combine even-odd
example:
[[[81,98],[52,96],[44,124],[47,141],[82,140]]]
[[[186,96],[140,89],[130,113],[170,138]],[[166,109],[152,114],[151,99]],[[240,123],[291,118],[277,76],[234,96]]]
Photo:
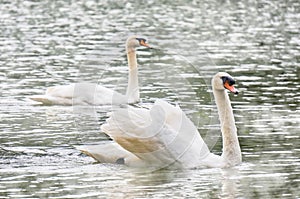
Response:
[[[234,87],[235,80],[231,75],[225,72],[217,73],[212,79],[212,86],[215,90],[229,90],[234,94],[238,94],[239,91]]]

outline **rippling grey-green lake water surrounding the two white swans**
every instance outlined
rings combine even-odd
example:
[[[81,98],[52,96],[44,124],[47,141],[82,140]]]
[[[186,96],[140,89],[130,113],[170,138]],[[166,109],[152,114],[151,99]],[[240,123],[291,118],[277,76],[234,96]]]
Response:
[[[0,198],[299,198],[300,2],[0,1]],[[210,78],[230,95],[243,163],[147,172],[99,164],[75,146],[103,143],[109,106],[40,106],[49,86],[125,93],[128,35],[140,49],[143,103],[179,104],[212,152],[221,139]]]

